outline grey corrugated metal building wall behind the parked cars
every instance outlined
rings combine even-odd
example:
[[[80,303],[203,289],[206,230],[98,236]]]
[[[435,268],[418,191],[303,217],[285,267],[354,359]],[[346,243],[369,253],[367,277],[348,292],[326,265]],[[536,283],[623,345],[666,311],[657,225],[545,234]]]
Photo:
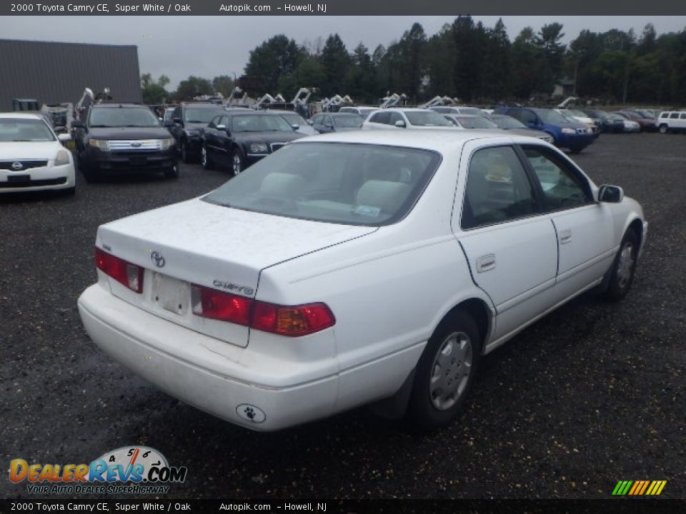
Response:
[[[0,39],[0,111],[15,98],[76,104],[86,87],[141,102],[138,47]]]

